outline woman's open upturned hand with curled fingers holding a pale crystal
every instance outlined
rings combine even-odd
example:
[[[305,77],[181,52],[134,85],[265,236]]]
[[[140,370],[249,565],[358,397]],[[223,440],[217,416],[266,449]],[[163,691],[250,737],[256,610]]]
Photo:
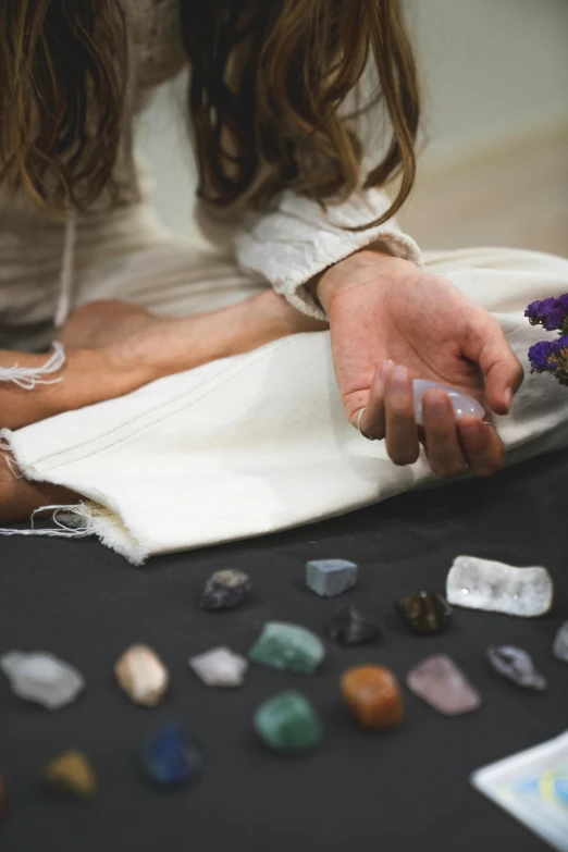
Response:
[[[449,281],[372,250],[326,270],[316,285],[331,324],[335,375],[349,421],[385,439],[397,465],[419,455],[412,379],[457,387],[482,403],[487,419],[509,410],[522,367],[499,324]],[[382,369],[381,369],[382,368]],[[434,473],[467,466],[478,476],[502,467],[504,446],[480,418],[456,421],[446,393],[422,399],[423,440]]]

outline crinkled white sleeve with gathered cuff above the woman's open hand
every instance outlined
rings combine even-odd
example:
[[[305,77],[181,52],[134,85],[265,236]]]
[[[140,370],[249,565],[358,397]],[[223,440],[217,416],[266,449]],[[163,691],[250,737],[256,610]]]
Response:
[[[380,242],[386,252],[423,268],[418,245],[394,219],[363,231],[344,230],[376,221],[390,206],[382,190],[360,189],[325,211],[316,201],[286,190],[276,209],[264,214],[248,212],[238,226],[234,219],[213,221],[200,205],[197,221],[209,239],[232,243],[243,271],[261,275],[295,308],[324,320],[325,312],[305,285],[355,251]]]

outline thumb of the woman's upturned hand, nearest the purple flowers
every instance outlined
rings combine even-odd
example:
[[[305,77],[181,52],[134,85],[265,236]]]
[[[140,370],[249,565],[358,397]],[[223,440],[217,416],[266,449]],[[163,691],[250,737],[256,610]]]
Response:
[[[497,415],[506,415],[524,373],[498,322],[485,311],[483,313],[466,355],[481,367],[485,376],[485,399],[491,408]]]

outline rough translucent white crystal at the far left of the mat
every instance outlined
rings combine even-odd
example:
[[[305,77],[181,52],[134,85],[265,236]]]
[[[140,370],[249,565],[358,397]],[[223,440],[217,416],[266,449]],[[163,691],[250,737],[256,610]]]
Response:
[[[0,668],[10,678],[14,695],[48,709],[71,704],[85,688],[78,669],[44,651],[10,651],[0,657]]]

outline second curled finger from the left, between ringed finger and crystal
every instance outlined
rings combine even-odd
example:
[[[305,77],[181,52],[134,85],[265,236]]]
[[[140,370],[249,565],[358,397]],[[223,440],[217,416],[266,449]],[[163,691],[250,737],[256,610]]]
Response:
[[[395,465],[411,465],[419,455],[412,382],[406,367],[396,365],[386,380],[384,397],[386,450]]]

